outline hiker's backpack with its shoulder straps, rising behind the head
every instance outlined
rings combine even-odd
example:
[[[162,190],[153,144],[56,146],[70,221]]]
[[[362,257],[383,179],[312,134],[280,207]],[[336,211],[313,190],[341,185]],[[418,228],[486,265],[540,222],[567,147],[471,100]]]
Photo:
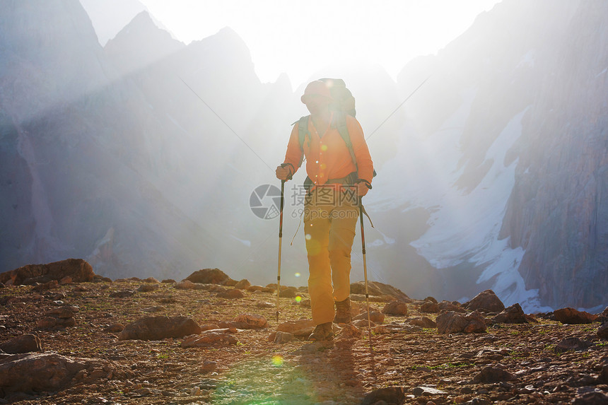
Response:
[[[351,115],[352,117],[355,117],[356,115],[353,93],[346,88],[346,83],[344,83],[344,80],[341,78],[320,78],[318,80],[327,83],[327,87],[329,87],[329,93],[332,94],[332,98],[334,99],[334,102],[329,108],[334,112],[336,129],[342,139],[344,139],[344,143],[346,143],[346,147],[349,149],[355,167],[358,167],[355,151],[353,150],[353,143],[351,142],[351,136],[349,134],[349,128],[346,127],[346,115]],[[304,160],[304,140],[306,139],[307,134],[310,136],[310,131],[308,131],[308,119],[310,119],[310,115],[305,115],[296,121],[298,122],[298,140],[300,141],[300,150],[302,151],[300,166]],[[293,124],[296,124],[296,122]],[[375,175],[376,171],[374,170],[373,177],[375,177]]]

